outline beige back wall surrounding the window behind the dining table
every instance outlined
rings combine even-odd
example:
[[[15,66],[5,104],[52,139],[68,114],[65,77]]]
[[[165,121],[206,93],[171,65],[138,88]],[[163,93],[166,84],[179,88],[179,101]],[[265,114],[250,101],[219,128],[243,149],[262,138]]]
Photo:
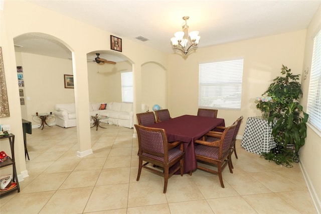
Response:
[[[248,117],[260,116],[254,99],[261,95],[270,80],[280,76],[282,64],[294,74],[302,72],[305,30],[261,37],[235,43],[200,48],[187,59],[181,55],[170,55],[169,61],[169,109],[174,117],[191,114],[198,110],[199,63],[215,60],[244,58],[241,110],[219,109],[218,117],[225,124],[232,124],[243,115],[244,121],[239,135],[243,135]]]

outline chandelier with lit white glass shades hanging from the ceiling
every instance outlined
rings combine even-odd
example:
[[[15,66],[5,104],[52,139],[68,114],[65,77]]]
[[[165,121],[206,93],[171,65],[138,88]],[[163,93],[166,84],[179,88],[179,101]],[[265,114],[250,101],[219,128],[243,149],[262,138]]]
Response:
[[[174,34],[175,37],[171,39],[173,49],[182,51],[185,56],[191,49],[197,48],[196,46],[199,44],[201,38],[198,31],[192,31],[188,34],[189,26],[187,25],[187,20],[189,18],[190,17],[183,17],[185,21],[182,25],[183,31],[176,32]],[[189,39],[188,35],[190,36]]]

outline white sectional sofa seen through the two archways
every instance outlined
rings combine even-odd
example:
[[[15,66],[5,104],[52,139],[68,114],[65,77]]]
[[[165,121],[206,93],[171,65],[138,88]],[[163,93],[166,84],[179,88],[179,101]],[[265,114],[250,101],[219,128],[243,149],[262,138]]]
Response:
[[[107,103],[105,110],[99,110],[100,104]],[[64,128],[75,127],[76,123],[76,109],[75,103],[62,103],[55,105],[54,111],[56,117],[56,125]],[[133,128],[133,104],[126,102],[97,102],[89,103],[90,116],[107,116],[108,119],[101,122],[114,124],[121,127]]]

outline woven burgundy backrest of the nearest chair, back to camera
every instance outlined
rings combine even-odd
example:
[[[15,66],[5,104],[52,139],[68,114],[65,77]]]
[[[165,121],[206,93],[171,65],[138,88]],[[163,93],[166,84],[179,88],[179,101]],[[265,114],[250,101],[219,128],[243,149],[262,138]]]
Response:
[[[168,163],[168,141],[165,130],[137,124],[134,126],[138,136],[138,154],[147,157],[158,156],[157,160]]]

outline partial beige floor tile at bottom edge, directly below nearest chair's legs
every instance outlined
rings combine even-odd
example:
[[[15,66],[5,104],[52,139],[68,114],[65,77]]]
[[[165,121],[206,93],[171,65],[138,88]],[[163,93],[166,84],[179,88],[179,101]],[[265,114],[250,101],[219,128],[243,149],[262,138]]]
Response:
[[[149,206],[130,207],[127,210],[127,214],[136,214],[136,213],[139,213],[139,214],[153,214],[153,213],[171,214],[169,205],[167,203],[149,205]]]

